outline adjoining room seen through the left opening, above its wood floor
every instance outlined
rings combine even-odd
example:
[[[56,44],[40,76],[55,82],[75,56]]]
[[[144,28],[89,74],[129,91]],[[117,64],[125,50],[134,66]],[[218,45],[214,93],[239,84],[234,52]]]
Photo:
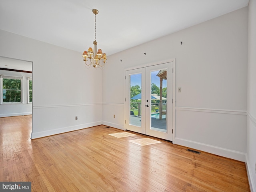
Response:
[[[0,117],[31,116],[32,62],[0,56]]]

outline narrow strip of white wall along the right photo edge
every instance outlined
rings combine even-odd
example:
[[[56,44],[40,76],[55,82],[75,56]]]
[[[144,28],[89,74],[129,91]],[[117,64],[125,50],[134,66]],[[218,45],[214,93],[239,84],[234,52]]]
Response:
[[[256,0],[250,0],[248,7],[248,117],[246,160],[251,191],[256,192]]]

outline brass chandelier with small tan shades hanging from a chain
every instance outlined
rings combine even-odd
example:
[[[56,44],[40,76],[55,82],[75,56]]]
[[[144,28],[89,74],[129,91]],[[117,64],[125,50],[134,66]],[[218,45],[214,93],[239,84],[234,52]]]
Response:
[[[99,13],[98,10],[93,9],[93,14],[95,14],[95,39],[93,42],[93,50],[91,47],[89,47],[88,51],[84,51],[82,56],[84,57],[83,61],[86,68],[90,68],[90,66],[93,66],[94,68],[99,67],[103,68],[105,66],[107,56],[106,53],[102,53],[101,49],[98,49],[97,51],[97,42],[96,42],[96,14]],[[96,52],[97,51],[97,52]],[[88,60],[90,60],[88,63],[86,63]],[[100,63],[100,61],[103,60],[103,63]]]

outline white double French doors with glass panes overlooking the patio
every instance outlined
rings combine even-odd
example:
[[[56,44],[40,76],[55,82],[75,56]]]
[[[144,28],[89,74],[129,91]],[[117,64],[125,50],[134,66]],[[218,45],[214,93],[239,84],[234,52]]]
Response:
[[[126,130],[172,140],[173,62],[126,71]]]

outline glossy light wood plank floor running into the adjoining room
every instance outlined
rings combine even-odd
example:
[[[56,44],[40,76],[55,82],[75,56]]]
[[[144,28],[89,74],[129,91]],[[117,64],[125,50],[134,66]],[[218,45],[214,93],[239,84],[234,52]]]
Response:
[[[0,181],[30,181],[32,192],[246,192],[243,162],[96,126],[30,140],[31,116],[0,118]]]

